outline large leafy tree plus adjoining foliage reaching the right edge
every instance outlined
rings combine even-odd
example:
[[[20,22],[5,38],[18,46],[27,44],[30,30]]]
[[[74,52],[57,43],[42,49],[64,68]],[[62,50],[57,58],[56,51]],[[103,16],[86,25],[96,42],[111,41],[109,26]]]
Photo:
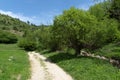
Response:
[[[118,40],[117,24],[112,19],[98,21],[89,12],[70,8],[55,18],[52,31],[58,42],[80,53],[83,48],[93,50]]]

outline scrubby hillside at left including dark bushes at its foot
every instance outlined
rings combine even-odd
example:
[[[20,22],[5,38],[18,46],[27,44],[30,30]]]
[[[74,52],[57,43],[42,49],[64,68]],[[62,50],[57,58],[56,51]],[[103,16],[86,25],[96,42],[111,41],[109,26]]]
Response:
[[[22,22],[17,18],[0,14],[0,43],[16,43],[17,38],[23,37],[29,30],[34,30],[34,24]]]

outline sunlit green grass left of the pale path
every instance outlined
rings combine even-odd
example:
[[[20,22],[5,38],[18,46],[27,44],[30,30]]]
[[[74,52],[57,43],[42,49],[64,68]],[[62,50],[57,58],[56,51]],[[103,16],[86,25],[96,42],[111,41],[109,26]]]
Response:
[[[29,61],[16,44],[0,44],[0,80],[27,80]]]

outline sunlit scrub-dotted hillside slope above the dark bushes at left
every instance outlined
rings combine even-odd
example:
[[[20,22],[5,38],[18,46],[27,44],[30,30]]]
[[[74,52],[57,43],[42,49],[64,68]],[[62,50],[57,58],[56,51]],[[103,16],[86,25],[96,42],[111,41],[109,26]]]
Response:
[[[28,29],[35,28],[34,24],[30,24],[29,21],[23,22],[17,18],[12,18],[8,15],[0,14],[0,29],[7,30],[12,33],[23,34]]]

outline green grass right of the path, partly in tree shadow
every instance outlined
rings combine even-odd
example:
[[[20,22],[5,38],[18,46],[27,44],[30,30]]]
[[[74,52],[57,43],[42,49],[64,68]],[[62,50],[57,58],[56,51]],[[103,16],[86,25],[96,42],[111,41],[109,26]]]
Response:
[[[107,61],[57,52],[44,55],[68,72],[74,80],[120,80],[120,69]]]

